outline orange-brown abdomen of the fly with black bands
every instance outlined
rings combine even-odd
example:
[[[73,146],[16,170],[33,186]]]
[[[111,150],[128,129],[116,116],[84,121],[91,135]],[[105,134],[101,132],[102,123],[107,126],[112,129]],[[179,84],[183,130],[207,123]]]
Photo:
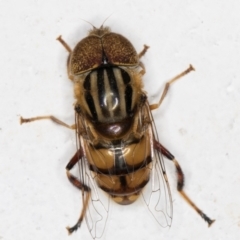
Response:
[[[122,141],[108,147],[86,147],[90,170],[98,186],[119,204],[134,202],[149,181],[152,164],[148,132],[129,144]]]

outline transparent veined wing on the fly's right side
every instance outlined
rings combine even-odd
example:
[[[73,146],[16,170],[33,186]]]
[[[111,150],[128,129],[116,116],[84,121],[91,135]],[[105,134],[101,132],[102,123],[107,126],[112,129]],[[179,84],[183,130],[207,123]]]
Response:
[[[148,122],[150,122],[147,131],[149,133],[149,141],[151,142],[152,165],[150,165],[149,183],[143,190],[142,196],[156,221],[162,227],[170,227],[173,214],[172,196],[163,156],[154,149],[154,141],[158,141],[158,136],[148,103],[143,107],[143,112],[145,112],[145,118],[147,117]]]

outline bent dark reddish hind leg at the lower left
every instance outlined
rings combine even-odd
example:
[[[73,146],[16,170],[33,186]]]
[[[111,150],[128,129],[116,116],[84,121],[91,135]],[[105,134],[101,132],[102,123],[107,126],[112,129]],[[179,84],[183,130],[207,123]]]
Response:
[[[86,210],[87,210],[87,206],[88,206],[88,202],[90,199],[90,195],[91,195],[91,189],[85,185],[84,183],[80,182],[75,176],[73,176],[70,173],[70,170],[74,167],[74,165],[78,162],[81,161],[83,156],[83,151],[80,148],[75,155],[72,157],[72,159],[69,161],[69,163],[66,166],[66,170],[67,170],[67,177],[69,179],[69,181],[78,189],[80,189],[82,191],[82,200],[83,200],[83,209],[81,211],[80,217],[77,221],[77,223],[73,226],[73,227],[67,227],[68,233],[71,234],[72,232],[76,231],[80,226],[81,223],[84,219],[84,216],[86,214]]]

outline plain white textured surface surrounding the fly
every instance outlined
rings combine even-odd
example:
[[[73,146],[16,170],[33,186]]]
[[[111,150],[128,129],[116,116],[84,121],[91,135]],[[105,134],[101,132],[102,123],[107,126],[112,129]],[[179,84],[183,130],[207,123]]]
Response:
[[[0,2],[0,239],[91,239],[87,227],[67,236],[80,194],[65,165],[74,133],[48,121],[19,125],[19,116],[53,114],[73,123],[72,83],[60,34],[73,47],[90,25],[126,36],[143,58],[151,102],[191,63],[154,113],[161,142],[179,160],[186,191],[211,228],[172,188],[174,218],[164,231],[143,204],[111,210],[104,239],[240,239],[240,2],[8,0]],[[166,160],[167,162],[167,160]],[[166,163],[175,186],[174,168]]]

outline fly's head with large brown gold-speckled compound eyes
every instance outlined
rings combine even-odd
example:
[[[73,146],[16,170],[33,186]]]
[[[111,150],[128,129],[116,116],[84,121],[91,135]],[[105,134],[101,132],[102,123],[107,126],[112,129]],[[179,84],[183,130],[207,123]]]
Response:
[[[93,29],[89,36],[74,48],[70,72],[79,75],[104,65],[134,66],[139,58],[133,45],[122,35],[109,28]]]

